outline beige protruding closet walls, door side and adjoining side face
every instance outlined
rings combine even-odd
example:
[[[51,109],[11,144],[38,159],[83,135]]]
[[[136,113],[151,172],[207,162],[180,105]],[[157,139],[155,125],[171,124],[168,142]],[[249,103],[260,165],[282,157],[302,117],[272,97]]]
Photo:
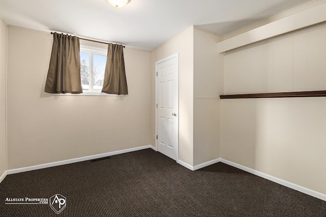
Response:
[[[190,27],[151,52],[151,133],[155,146],[155,62],[179,53],[179,160],[191,166],[220,156],[222,38]]]

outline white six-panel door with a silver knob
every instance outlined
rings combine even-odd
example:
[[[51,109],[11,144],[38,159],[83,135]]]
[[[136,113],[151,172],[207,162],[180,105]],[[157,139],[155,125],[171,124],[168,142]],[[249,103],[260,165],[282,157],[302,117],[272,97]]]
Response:
[[[157,150],[178,160],[179,55],[157,61]]]

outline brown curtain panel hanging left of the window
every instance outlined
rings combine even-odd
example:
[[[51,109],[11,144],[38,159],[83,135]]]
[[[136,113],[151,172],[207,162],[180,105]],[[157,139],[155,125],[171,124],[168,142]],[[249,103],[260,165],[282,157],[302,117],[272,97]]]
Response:
[[[53,45],[45,92],[81,94],[79,38],[53,33]]]

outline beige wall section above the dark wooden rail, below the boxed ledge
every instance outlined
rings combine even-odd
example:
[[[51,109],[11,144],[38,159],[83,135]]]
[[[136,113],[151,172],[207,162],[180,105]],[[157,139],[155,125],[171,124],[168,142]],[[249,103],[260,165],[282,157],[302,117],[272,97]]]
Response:
[[[227,52],[225,94],[326,89],[324,37],[321,23]]]

